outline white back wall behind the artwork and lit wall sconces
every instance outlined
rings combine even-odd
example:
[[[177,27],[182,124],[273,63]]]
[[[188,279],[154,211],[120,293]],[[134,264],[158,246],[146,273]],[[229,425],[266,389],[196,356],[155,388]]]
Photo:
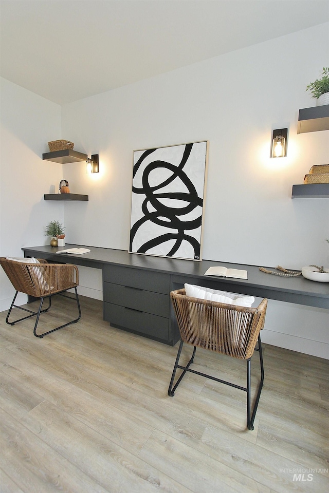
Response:
[[[329,162],[328,131],[297,135],[299,108],[314,105],[305,87],[329,64],[327,31],[324,24],[62,106],[61,137],[100,155],[97,176],[83,163],[63,165],[71,192],[89,195],[64,204],[66,241],[127,249],[133,150],[208,140],[203,257],[329,265],[328,199],[291,199],[312,165]],[[271,131],[286,126],[287,158],[271,160]],[[40,135],[35,128],[41,156],[49,139]],[[85,275],[92,296],[94,274]],[[270,301],[263,340],[329,358],[327,320],[325,310]]]

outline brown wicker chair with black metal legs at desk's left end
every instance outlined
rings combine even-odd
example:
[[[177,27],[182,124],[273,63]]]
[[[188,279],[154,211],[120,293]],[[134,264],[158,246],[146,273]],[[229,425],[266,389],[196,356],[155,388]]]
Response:
[[[76,323],[81,317],[81,309],[77,292],[77,286],[79,285],[79,271],[77,267],[70,264],[47,263],[47,261],[42,258],[39,258],[38,260],[40,263],[23,263],[1,257],[0,264],[16,290],[7,314],[7,324],[14,325],[21,320],[26,320],[27,318],[36,315],[33,334],[35,337],[42,338],[44,335],[50,334],[50,332],[54,332],[55,330],[66,327],[67,325]],[[71,288],[74,288],[76,292],[76,301],[79,311],[78,318],[71,320],[67,324],[56,327],[56,329],[48,330],[42,334],[37,334],[36,327],[38,326],[40,314],[47,312],[51,307],[51,296],[62,293]],[[15,305],[15,299],[19,292],[25,293],[34,298],[40,298],[39,310],[37,312],[33,312],[32,310]],[[44,298],[49,299],[49,304],[47,308],[42,310]],[[19,308],[20,310],[29,312],[30,315],[17,320],[9,321],[9,316],[13,308]]]

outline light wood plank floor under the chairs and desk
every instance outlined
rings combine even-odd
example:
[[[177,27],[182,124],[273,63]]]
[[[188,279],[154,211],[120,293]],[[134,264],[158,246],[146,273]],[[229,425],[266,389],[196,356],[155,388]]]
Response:
[[[100,301],[81,305],[78,324],[43,339],[32,319],[11,327],[0,313],[2,493],[329,491],[328,361],[264,345],[248,431],[245,392],[187,374],[169,397],[178,345],[112,328]],[[57,297],[42,320],[67,308]],[[245,362],[197,350],[194,367],[245,385]],[[257,379],[258,353],[252,367]]]

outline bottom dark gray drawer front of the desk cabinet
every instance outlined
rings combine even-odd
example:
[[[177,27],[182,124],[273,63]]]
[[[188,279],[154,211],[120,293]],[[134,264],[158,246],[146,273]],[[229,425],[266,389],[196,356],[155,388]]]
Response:
[[[134,330],[142,335],[168,340],[168,318],[105,302],[104,319],[113,325]]]

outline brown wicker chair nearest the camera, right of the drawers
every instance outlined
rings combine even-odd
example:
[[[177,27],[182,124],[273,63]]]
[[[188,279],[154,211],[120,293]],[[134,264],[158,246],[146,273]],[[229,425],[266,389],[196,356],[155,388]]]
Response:
[[[247,392],[247,427],[253,430],[253,422],[257,411],[263,382],[264,366],[260,331],[264,327],[267,299],[264,298],[257,308],[245,308],[236,305],[226,305],[215,301],[188,297],[185,289],[170,293],[180,332],[180,345],[174,370],[169,385],[168,395],[174,392],[187,371],[211,378],[231,387]],[[255,345],[258,341],[258,348]],[[194,346],[193,354],[186,366],[178,364],[182,346],[187,343]],[[226,354],[233,358],[247,360],[247,387],[241,387],[225,380],[190,369],[193,363],[196,347],[209,349]],[[261,366],[261,381],[251,411],[251,356],[254,350],[259,351]],[[176,384],[174,379],[177,368],[183,370]]]

